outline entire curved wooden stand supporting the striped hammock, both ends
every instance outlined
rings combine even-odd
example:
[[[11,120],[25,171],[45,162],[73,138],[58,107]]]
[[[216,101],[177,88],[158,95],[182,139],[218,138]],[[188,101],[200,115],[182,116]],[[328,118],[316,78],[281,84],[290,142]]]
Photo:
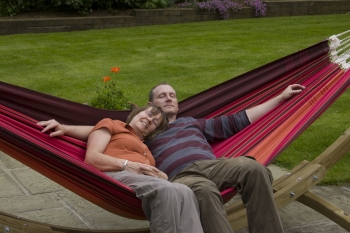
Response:
[[[336,164],[350,151],[350,128],[347,129],[330,147],[313,161],[303,161],[286,175],[278,178],[273,183],[274,198],[278,209],[283,208],[293,201],[298,201],[315,211],[323,214],[330,220],[350,232],[350,216],[342,209],[327,200],[309,191],[320,182],[329,168]],[[247,226],[246,210],[241,201],[226,208],[229,221],[234,231]],[[87,230],[78,228],[66,228],[50,224],[40,223],[27,219],[21,219],[14,215],[0,212],[0,232],[5,233],[147,233],[149,229],[131,230]]]

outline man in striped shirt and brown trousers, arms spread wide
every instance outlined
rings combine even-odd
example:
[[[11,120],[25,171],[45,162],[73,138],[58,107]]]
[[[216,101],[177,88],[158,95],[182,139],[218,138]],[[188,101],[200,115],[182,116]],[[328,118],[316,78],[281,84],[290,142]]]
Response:
[[[209,141],[228,138],[253,123],[305,87],[288,86],[280,95],[251,109],[215,119],[178,118],[178,100],[175,90],[161,83],[149,93],[149,104],[161,107],[169,119],[169,129],[148,141],[157,168],[170,181],[189,186],[195,193],[203,230],[206,233],[233,232],[222,205],[220,191],[236,187],[247,209],[251,233],[283,232],[272,194],[271,172],[247,157],[216,159]],[[51,136],[68,134],[86,139],[92,127],[63,126],[48,121],[44,131],[55,128]],[[215,131],[214,131],[215,129]],[[142,168],[140,173],[148,173]]]

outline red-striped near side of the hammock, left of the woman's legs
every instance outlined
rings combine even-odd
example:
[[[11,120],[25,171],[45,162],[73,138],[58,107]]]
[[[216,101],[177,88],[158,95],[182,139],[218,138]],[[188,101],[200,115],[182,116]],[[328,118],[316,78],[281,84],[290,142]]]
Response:
[[[17,157],[21,162],[111,212],[144,219],[140,200],[129,187],[83,162],[85,142],[50,138],[33,119],[2,105],[0,126],[1,138],[25,155]]]

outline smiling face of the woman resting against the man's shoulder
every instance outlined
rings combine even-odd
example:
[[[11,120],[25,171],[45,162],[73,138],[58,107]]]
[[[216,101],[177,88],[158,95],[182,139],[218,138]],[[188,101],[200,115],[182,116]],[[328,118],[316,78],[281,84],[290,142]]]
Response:
[[[140,139],[144,139],[152,133],[162,121],[162,114],[158,113],[153,115],[151,107],[138,113],[131,121],[130,126],[134,129],[135,133]]]

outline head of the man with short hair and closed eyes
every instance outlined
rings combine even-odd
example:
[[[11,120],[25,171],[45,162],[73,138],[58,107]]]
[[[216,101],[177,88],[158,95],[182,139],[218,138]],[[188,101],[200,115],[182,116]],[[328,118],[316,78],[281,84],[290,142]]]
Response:
[[[176,116],[179,110],[176,92],[169,85],[160,85],[153,90],[152,104],[162,108],[168,118]]]

